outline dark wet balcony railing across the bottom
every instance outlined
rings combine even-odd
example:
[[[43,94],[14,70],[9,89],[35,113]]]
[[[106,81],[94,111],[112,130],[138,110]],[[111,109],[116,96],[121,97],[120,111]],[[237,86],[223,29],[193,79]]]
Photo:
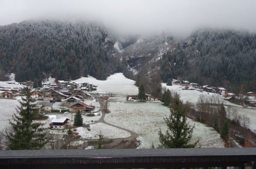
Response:
[[[0,151],[0,168],[243,168],[256,148]]]

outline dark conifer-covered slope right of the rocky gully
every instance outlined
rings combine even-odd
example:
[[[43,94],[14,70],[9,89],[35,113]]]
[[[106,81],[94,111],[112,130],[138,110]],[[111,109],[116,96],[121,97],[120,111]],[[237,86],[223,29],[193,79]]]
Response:
[[[232,90],[256,89],[256,35],[232,30],[200,30],[162,58],[168,72],[201,84]],[[175,66],[174,66],[175,63]],[[170,70],[170,71],[168,71]]]

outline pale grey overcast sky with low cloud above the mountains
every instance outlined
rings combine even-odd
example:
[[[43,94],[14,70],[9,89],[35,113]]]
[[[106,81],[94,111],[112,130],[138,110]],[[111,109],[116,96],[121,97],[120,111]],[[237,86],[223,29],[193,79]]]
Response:
[[[38,18],[96,20],[119,33],[187,35],[198,28],[256,32],[256,1],[0,0],[0,25]]]

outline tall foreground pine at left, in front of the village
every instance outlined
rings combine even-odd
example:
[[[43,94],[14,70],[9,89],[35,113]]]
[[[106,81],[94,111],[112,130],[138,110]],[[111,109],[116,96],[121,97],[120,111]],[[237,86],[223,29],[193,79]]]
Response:
[[[28,88],[24,95],[10,120],[11,131],[5,133],[6,145],[10,150],[39,150],[46,144],[44,124],[33,121],[37,110]]]

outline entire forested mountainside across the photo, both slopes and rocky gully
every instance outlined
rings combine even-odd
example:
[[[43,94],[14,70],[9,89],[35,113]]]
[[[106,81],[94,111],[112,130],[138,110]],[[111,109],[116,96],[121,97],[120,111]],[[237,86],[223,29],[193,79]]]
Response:
[[[256,35],[242,31],[204,29],[183,40],[168,33],[115,37],[96,23],[28,20],[0,27],[0,59],[0,80],[7,73],[26,81],[123,72],[149,92],[171,78],[256,91]]]

